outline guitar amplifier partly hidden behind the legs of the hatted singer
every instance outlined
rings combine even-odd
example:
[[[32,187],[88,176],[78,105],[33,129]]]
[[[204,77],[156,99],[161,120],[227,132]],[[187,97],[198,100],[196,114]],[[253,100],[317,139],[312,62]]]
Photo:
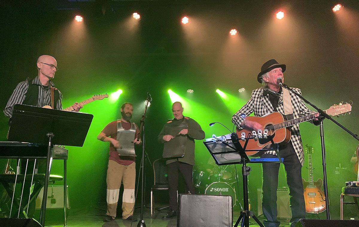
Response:
[[[262,215],[262,189],[257,189],[257,198],[258,198],[258,216]],[[289,188],[288,187],[278,187],[277,189],[277,209],[278,209],[278,218],[292,218],[292,212],[289,207]]]

